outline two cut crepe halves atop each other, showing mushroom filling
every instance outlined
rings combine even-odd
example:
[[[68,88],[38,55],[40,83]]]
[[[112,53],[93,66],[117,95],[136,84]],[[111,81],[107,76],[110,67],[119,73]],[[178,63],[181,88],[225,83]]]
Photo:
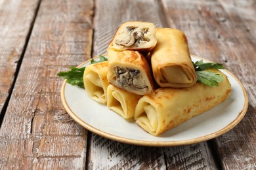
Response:
[[[151,67],[142,55],[156,46],[156,26],[149,22],[121,24],[108,46],[108,81],[127,92],[154,91]]]

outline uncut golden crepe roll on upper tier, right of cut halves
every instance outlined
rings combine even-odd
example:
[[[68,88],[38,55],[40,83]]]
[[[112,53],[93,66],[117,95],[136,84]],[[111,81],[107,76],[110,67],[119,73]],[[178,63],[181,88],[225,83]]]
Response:
[[[159,86],[186,88],[195,84],[197,76],[186,35],[178,29],[158,28],[156,39],[158,43],[151,52],[151,64]]]

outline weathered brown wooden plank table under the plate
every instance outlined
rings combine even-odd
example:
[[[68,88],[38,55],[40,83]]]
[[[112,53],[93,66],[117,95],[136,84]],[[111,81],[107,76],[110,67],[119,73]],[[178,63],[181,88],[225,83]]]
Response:
[[[234,129],[186,146],[104,139],[70,118],[56,76],[106,52],[126,21],[184,31],[190,52],[224,63],[249,108]],[[256,169],[255,0],[0,1],[0,169]]]

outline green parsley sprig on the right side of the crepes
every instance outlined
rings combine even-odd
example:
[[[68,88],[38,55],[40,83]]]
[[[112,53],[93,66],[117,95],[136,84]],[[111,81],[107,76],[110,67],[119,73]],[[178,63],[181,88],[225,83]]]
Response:
[[[203,63],[203,60],[192,62],[198,76],[198,81],[207,86],[219,86],[219,82],[224,81],[222,75],[205,71],[207,69],[225,69],[221,63]]]

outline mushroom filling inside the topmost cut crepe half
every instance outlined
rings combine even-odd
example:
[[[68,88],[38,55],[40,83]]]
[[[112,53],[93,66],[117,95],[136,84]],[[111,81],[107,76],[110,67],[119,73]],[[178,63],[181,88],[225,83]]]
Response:
[[[150,41],[145,37],[146,33],[148,33],[148,28],[126,27],[124,31],[118,34],[115,42],[121,46],[139,46]]]

